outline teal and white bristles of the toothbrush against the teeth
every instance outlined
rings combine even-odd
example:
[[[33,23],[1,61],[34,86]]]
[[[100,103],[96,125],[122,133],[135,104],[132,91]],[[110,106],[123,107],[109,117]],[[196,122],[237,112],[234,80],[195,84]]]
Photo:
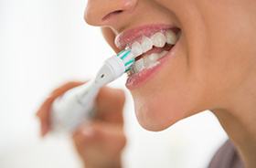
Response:
[[[123,65],[125,67],[125,72],[131,69],[133,63],[135,62],[135,58],[133,52],[130,48],[125,48],[123,51],[116,55],[117,58],[120,58],[123,61]]]

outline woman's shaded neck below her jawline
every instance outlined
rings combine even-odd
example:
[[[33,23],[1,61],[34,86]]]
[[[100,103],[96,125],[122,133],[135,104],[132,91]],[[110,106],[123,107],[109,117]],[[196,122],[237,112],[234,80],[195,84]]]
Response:
[[[256,81],[256,80],[255,80]],[[256,167],[256,82],[240,89],[226,108],[212,110],[236,145],[247,168]],[[255,86],[254,86],[255,85]]]

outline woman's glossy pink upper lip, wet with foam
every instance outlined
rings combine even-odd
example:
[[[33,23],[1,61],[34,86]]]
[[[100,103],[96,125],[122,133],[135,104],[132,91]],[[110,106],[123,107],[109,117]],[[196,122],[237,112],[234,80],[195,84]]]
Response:
[[[139,26],[133,29],[124,30],[122,33],[115,37],[115,46],[119,49],[123,49],[127,45],[131,45],[136,39],[140,37],[150,37],[156,32],[161,30],[170,29],[174,26],[158,24],[158,25],[147,25]]]

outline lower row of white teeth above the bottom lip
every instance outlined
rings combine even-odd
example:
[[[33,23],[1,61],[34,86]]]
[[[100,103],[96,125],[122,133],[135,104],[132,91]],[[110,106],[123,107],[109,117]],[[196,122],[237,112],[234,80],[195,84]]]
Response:
[[[164,50],[161,53],[153,53],[149,56],[144,56],[144,58],[136,60],[128,75],[138,73],[142,71],[144,68],[154,68],[156,65],[159,64],[158,59],[165,57],[166,53],[167,51]]]

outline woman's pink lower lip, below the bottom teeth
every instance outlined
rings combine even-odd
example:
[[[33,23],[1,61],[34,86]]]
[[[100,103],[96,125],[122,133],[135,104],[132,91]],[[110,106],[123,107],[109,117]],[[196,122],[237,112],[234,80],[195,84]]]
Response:
[[[169,58],[173,58],[174,54],[175,54],[175,50],[176,50],[176,46],[178,44],[178,41],[176,43],[176,45],[174,47],[171,48],[171,50],[166,54],[166,56],[164,58],[160,58],[158,59],[159,64],[156,65],[153,68],[146,68],[136,74],[133,74],[131,77],[129,77],[126,81],[126,88],[127,89],[136,89],[141,87],[142,85],[144,85],[144,83],[148,80],[148,79],[152,79],[153,76],[155,75],[155,73],[157,71],[160,70],[160,68],[163,67],[163,65],[165,64],[165,62],[169,59]]]

